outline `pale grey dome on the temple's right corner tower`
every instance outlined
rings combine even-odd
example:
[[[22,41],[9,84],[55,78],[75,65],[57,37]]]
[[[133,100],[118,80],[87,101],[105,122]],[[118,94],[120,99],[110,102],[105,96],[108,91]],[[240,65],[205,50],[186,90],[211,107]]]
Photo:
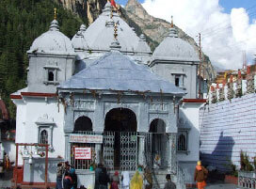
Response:
[[[152,60],[176,60],[199,62],[194,48],[185,40],[178,38],[177,30],[170,28],[168,37],[164,39],[152,54]]]

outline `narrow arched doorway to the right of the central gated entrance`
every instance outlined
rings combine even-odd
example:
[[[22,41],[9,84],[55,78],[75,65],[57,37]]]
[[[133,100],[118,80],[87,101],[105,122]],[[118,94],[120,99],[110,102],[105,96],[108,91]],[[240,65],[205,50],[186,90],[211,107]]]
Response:
[[[167,141],[166,123],[163,119],[155,118],[150,125],[152,134],[152,167],[165,168],[167,165]]]

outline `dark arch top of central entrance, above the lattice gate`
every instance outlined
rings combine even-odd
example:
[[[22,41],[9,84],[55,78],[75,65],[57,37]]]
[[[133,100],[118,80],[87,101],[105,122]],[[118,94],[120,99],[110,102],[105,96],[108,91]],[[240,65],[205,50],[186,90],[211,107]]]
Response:
[[[128,108],[113,108],[104,118],[104,131],[136,132],[136,113]]]

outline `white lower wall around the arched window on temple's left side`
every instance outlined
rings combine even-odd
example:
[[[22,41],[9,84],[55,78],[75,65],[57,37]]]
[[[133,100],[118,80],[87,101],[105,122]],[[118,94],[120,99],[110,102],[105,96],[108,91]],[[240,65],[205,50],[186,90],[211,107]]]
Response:
[[[23,101],[23,100],[20,100]],[[47,114],[48,118],[54,118],[56,126],[53,129],[53,147],[49,157],[58,155],[64,158],[64,108],[59,104],[59,112],[56,99],[45,101],[45,98],[27,98],[25,104],[17,103],[16,143],[38,143],[39,128],[36,121]],[[19,150],[19,165],[23,165],[23,159]]]

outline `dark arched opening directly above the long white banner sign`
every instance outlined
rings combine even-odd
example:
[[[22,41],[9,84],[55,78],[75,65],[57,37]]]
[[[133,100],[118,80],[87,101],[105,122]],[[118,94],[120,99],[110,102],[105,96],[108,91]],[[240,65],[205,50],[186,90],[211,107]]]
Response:
[[[74,122],[73,132],[91,132],[92,122],[91,119],[85,116],[79,117]]]

